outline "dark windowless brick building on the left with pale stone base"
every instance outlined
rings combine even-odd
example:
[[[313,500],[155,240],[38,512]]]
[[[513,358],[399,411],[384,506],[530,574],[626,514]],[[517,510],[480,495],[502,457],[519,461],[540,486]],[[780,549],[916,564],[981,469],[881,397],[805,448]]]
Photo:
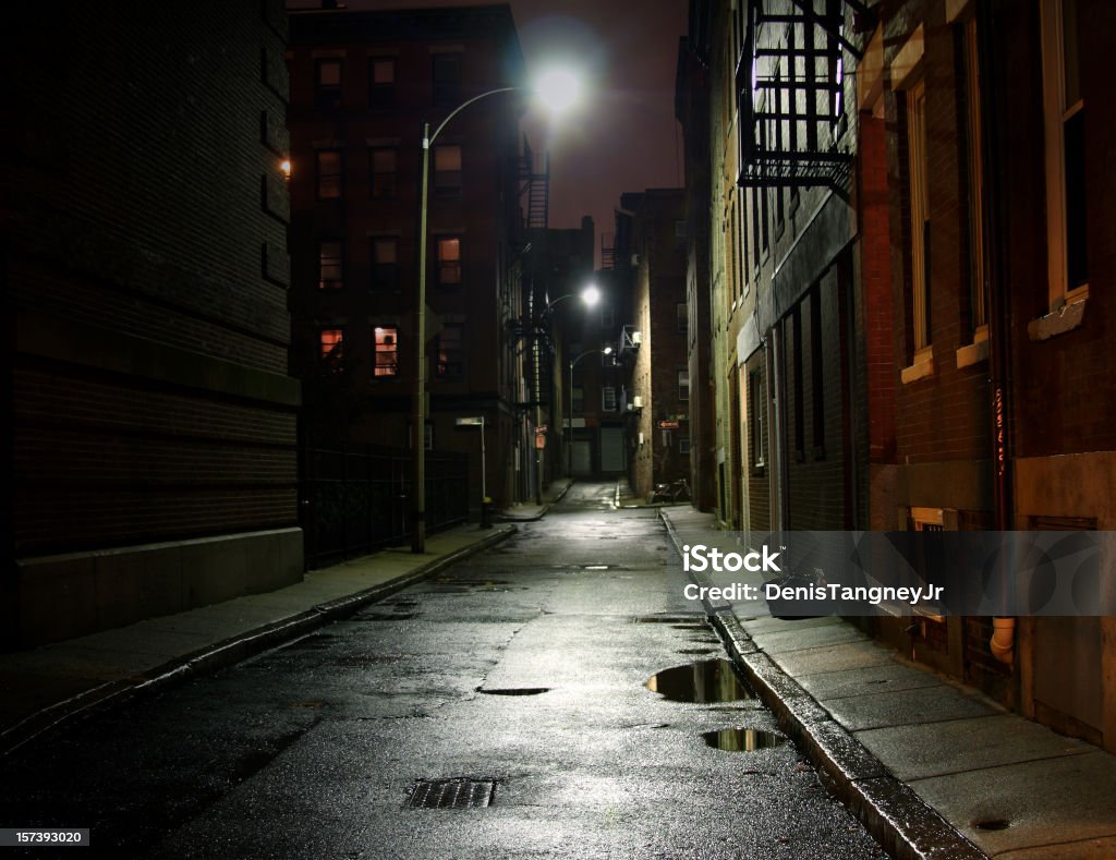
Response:
[[[6,32],[4,645],[297,581],[282,3]]]

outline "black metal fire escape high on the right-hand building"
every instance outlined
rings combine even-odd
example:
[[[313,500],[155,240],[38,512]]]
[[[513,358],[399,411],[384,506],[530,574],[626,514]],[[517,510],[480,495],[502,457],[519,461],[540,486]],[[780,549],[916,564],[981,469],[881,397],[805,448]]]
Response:
[[[840,187],[852,162],[845,138],[846,15],[859,0],[748,0],[737,68],[744,187]],[[859,29],[859,28],[857,28]]]

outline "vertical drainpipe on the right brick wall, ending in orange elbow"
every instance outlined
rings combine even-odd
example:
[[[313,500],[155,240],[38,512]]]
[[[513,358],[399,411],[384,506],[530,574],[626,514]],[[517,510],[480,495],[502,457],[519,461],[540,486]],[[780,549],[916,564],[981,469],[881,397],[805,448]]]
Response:
[[[985,62],[980,68],[980,98],[981,98],[981,132],[987,145],[981,154],[983,164],[982,173],[985,177],[985,194],[990,205],[984,206],[984,235],[988,241],[984,248],[989,251],[985,254],[985,281],[988,284],[988,328],[989,328],[989,388],[992,395],[991,403],[991,429],[992,429],[992,489],[994,502],[995,528],[1000,531],[1009,531],[1013,528],[1012,522],[1012,468],[1011,468],[1011,403],[1012,378],[1011,378],[1011,337],[1010,313],[1011,300],[1007,288],[1007,265],[1004,259],[1006,243],[995,241],[1000,238],[1000,231],[1007,225],[1008,210],[1004,191],[1009,189],[1010,182],[1003,180],[994,172],[999,160],[992,157],[992,153],[999,152],[998,146],[1002,142],[999,129],[1010,126],[1001,126],[994,117],[994,112],[999,105],[993,99],[995,91],[994,81],[991,74],[994,69],[1001,68],[1000,51],[992,38],[994,32],[995,12],[993,4],[978,4],[978,33],[980,33],[980,50],[978,56],[985,58]],[[1000,663],[1008,666],[1013,665],[1016,645],[1016,619],[993,618],[992,638],[989,640],[989,649],[992,656]]]

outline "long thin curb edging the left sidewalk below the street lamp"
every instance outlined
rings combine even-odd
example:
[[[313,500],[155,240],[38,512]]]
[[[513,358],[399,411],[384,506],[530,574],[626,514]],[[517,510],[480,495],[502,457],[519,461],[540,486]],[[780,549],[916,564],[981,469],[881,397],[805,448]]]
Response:
[[[143,675],[108,682],[79,693],[64,702],[49,705],[0,733],[0,758],[41,735],[77,718],[117,707],[135,698],[166,689],[190,678],[204,675],[273,648],[285,641],[304,636],[318,627],[355,613],[357,610],[383,600],[408,586],[434,576],[470,555],[489,549],[510,538],[514,525],[500,529],[477,543],[464,547],[420,568],[382,582],[378,586],[335,598],[304,612],[262,627],[246,630],[200,650],[169,660]]]

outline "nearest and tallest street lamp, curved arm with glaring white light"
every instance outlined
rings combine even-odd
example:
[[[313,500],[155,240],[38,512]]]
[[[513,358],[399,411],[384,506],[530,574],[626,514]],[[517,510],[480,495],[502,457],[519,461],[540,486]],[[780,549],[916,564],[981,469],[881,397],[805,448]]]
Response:
[[[430,147],[446,124],[474,102],[500,93],[533,91],[555,112],[577,100],[577,79],[568,71],[554,70],[543,75],[535,87],[499,87],[473,96],[450,112],[441,125],[430,133],[430,123],[422,126],[422,182],[419,197],[419,284],[415,289],[415,378],[411,404],[412,493],[414,495],[411,551],[426,551],[426,206],[430,196]]]

